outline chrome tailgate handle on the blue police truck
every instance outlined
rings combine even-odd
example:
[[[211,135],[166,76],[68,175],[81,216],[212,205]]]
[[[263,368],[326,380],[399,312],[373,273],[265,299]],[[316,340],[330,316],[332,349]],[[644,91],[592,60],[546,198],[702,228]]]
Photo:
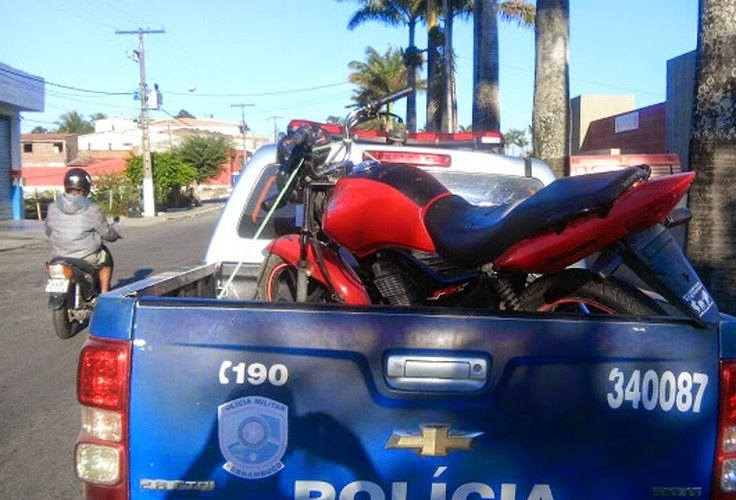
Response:
[[[386,382],[394,389],[420,392],[476,392],[488,381],[488,360],[481,356],[386,358]]]

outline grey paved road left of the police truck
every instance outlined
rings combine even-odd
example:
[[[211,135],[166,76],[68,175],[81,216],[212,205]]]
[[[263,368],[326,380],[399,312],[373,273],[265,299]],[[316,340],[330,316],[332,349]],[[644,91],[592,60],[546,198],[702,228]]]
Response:
[[[222,205],[124,219],[110,245],[120,286],[202,260]],[[43,291],[49,246],[40,223],[0,224],[0,499],[77,499],[76,363],[87,332],[54,333]]]

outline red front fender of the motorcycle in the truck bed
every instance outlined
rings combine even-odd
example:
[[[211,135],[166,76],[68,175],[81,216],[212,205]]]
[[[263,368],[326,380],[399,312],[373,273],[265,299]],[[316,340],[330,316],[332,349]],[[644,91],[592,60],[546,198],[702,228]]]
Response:
[[[337,252],[328,248],[323,243],[317,244],[320,245],[320,253],[324,258],[324,266],[329,274],[329,280],[322,273],[322,269],[314,254],[314,249],[311,246],[307,251],[309,277],[319,281],[328,289],[334,286],[333,291],[340,296],[345,304],[369,305],[371,300],[368,292],[350,266],[340,258]],[[276,238],[269,243],[266,249],[278,255],[294,267],[298,266],[300,254],[298,235],[290,234]]]

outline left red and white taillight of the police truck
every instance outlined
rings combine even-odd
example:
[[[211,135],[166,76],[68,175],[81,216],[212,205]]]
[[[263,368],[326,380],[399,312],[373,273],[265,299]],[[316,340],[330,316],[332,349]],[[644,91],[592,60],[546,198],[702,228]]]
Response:
[[[90,337],[79,355],[74,462],[88,499],[128,498],[130,353],[130,342]]]

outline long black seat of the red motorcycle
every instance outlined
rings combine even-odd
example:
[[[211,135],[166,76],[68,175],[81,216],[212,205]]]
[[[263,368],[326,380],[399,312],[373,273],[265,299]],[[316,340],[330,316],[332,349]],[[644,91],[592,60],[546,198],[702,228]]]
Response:
[[[477,267],[519,241],[550,229],[562,230],[581,215],[605,216],[616,198],[648,177],[647,166],[563,177],[521,202],[494,207],[450,195],[428,208],[424,222],[438,254],[456,264]]]

